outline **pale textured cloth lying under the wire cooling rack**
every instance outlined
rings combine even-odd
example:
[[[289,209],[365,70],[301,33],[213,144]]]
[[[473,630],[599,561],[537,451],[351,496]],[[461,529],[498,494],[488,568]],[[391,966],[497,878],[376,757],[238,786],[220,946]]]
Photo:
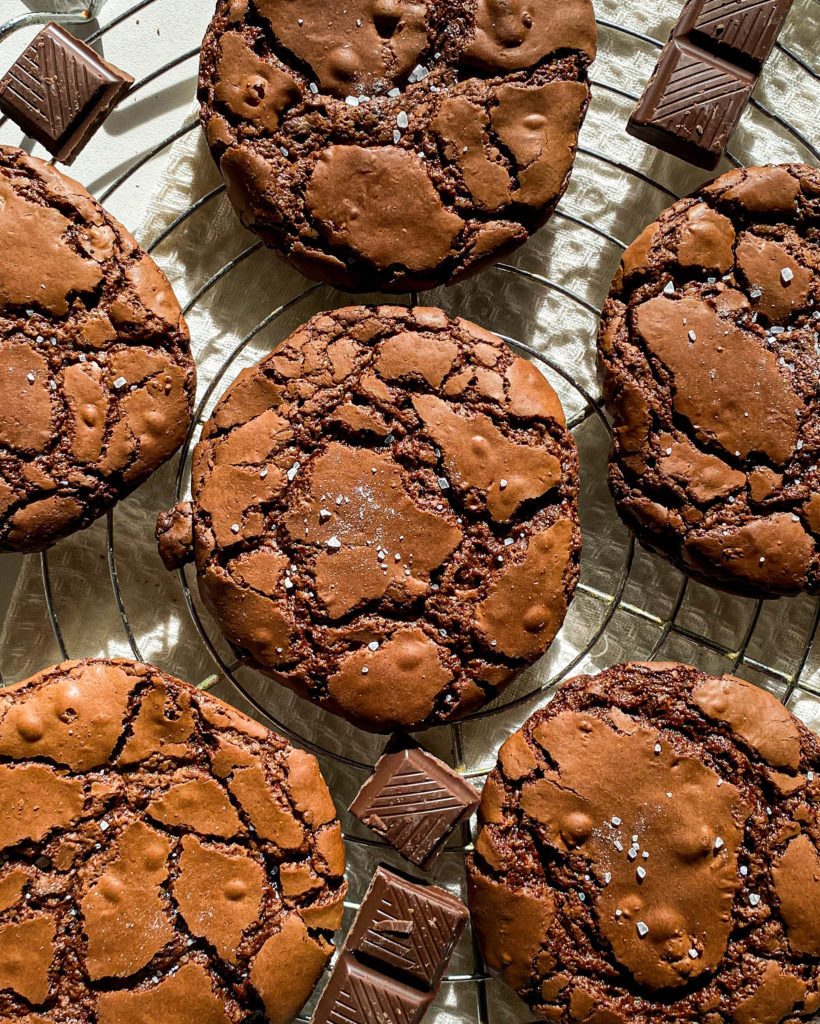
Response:
[[[190,20],[180,16],[180,7],[188,2],[177,0],[173,6],[173,31],[178,35],[180,54],[192,51],[201,35],[201,13]],[[196,6],[190,2],[191,10]],[[599,56],[592,69],[592,105],[572,180],[558,213],[508,261],[514,270],[488,269],[474,280],[422,296],[425,304],[440,305],[449,314],[467,316],[544,353],[550,365],[538,366],[558,389],[575,425],[580,457],[581,581],[558,639],[549,654],[501,698],[506,710],[483,714],[458,729],[435,729],[425,736],[425,742],[437,754],[476,773],[478,784],[492,765],[501,741],[549,699],[549,691],[526,697],[530,691],[557,676],[595,672],[627,658],[678,659],[718,674],[734,671],[787,697],[799,717],[820,729],[820,696],[812,692],[820,694],[820,651],[811,646],[817,599],[784,599],[759,607],[751,600],[698,585],[684,586],[681,573],[666,562],[632,551],[628,531],[607,490],[607,431],[589,402],[600,394],[596,311],[620,256],[618,243],[631,242],[674,197],[697,187],[710,175],[630,138],[623,130],[658,53],[658,47],[641,36],[664,40],[679,4],[675,0],[598,0],[596,12],[603,24],[599,25]],[[103,9],[103,22],[104,15]],[[120,38],[130,33],[136,48],[150,46],[147,28],[137,24],[144,17],[135,14],[116,32]],[[818,70],[820,0],[795,0],[780,42]],[[191,77],[186,79],[190,95],[195,65],[196,58],[190,61]],[[754,98],[761,109],[749,106],[744,114],[730,145],[732,157],[747,164],[820,164],[820,155],[813,154],[767,113],[776,111],[820,148],[820,80],[792,57],[775,50]],[[190,109],[185,123],[195,119],[196,112]],[[4,130],[0,138],[14,142],[19,136]],[[106,172],[122,173],[128,166],[128,156],[116,148],[106,151],[104,157]],[[725,160],[719,172],[730,166]],[[109,177],[105,183],[111,180]],[[113,204],[121,202],[136,188],[140,189],[137,196],[150,197],[143,223],[127,226],[145,247],[161,240],[153,255],[171,279],[180,301],[190,306],[187,318],[203,401],[199,423],[241,369],[257,361],[312,313],[350,302],[349,296],[332,289],[311,287],[259,247],[240,225],[223,191],[205,200],[220,184],[199,128],[193,126],[144,172],[123,182],[112,199]],[[99,195],[101,189],[95,191]],[[202,205],[172,227],[199,201]],[[117,205],[113,212],[118,212]],[[365,296],[362,301],[380,298],[384,297]],[[195,683],[218,672],[186,607],[180,579],[165,571],[154,543],[157,513],[177,500],[178,470],[176,459],[122,503],[110,523],[102,520],[49,552],[52,606],[70,656],[136,655]],[[180,497],[186,496],[187,477],[185,463]],[[113,587],[115,574],[121,605]],[[0,589],[9,575],[10,570],[0,562]],[[193,573],[188,571],[186,578],[199,608]],[[207,613],[202,614],[205,637],[226,663],[232,664],[218,631]],[[706,642],[698,637],[705,637]],[[44,597],[41,562],[30,556],[23,564],[2,624],[0,671],[6,682],[12,682],[61,656]],[[307,706],[256,673],[239,669],[235,676],[268,710],[275,725],[288,729],[296,742],[319,749],[326,777],[344,812],[364,778],[363,766],[375,761],[383,740]],[[216,692],[243,710],[250,708],[224,678],[217,683]],[[517,698],[521,699],[516,702]],[[355,842],[371,838],[370,834],[347,813],[342,813],[342,820],[353,840],[348,843],[350,898],[357,901],[378,860],[400,862],[384,848]],[[434,878],[454,891],[462,891],[464,866],[458,848],[441,858]],[[473,970],[468,929],[450,975],[470,975]],[[437,1007],[438,1014],[430,1017],[433,1024],[472,1020],[518,1024],[531,1020],[516,997],[494,981],[484,986],[446,983]]]

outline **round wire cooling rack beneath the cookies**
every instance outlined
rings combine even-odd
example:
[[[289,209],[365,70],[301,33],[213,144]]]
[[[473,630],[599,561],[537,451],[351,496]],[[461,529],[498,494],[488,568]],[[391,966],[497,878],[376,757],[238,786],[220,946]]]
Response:
[[[105,24],[101,25],[96,31],[91,35],[86,36],[86,42],[92,44],[97,40],[104,37],[107,33],[112,32],[114,29],[121,25],[124,25],[128,20],[135,18],[141,11],[149,7],[152,4],[156,3],[157,0],[138,0],[132,6],[124,10],[118,16],[112,18]],[[811,0],[812,3],[820,5],[820,0]],[[98,6],[98,5],[97,5]],[[88,22],[93,13],[96,11],[96,6],[92,6],[91,10],[84,9],[81,11],[63,14],[63,15],[48,15],[41,13],[26,14],[21,17],[8,23],[6,26],[0,27],[0,37],[7,34],[20,27],[21,25],[31,25],[36,22],[45,22],[50,17],[54,16],[55,19],[60,20],[62,24],[78,24],[83,22]],[[662,42],[651,36],[645,35],[643,33],[637,32],[633,29],[627,28],[624,26],[617,25],[613,22],[609,22],[603,18],[598,18],[598,26],[607,32],[619,33],[623,36],[632,37],[647,46],[653,47],[655,49],[660,49],[662,47]],[[820,82],[820,74],[811,68],[799,54],[794,53],[787,46],[777,43],[776,49],[781,53],[787,60],[793,63],[794,69],[800,74],[805,74],[809,76],[816,82]],[[129,95],[144,89],[150,83],[161,79],[164,75],[168,74],[172,70],[176,69],[180,65],[196,60],[199,56],[199,46],[191,48],[183,53],[178,54],[172,60],[169,60],[161,68],[156,69],[150,74],[146,75],[142,79],[136,81],[131,89],[129,90]],[[595,77],[591,77],[591,84],[595,92],[601,91],[604,93],[610,93],[614,96],[620,97],[622,99],[629,100],[631,102],[637,102],[638,96],[628,92],[621,88],[613,85],[609,85],[606,82],[600,81]],[[752,97],[750,100],[750,105],[756,109],[760,114],[762,114],[767,120],[771,121],[780,131],[786,133],[790,136],[794,142],[799,143],[808,154],[820,163],[820,152],[818,148],[805,137],[794,126],[789,124],[785,119],[780,117],[778,114],[770,110],[759,99]],[[0,118],[0,128],[6,123],[6,118]],[[172,132],[167,137],[162,139],[160,142],[155,144],[149,151],[143,153],[139,158],[135,159],[129,166],[120,173],[112,182],[107,185],[104,190],[100,193],[97,197],[98,200],[104,203],[110,197],[121,189],[128,180],[139,171],[144,165],[146,165],[154,158],[158,157],[164,151],[170,148],[170,146],[179,138],[186,135],[187,133],[195,131],[198,126],[198,121],[193,120],[184,124],[178,130]],[[643,184],[650,186],[651,188],[657,190],[664,199],[674,202],[679,198],[673,190],[664,186],[653,178],[644,174],[643,172],[629,167],[628,165],[618,162],[616,160],[607,157],[605,154],[600,153],[596,150],[589,147],[578,146],[578,155],[587,157],[594,161],[600,161],[603,164],[609,165],[609,167],[614,168],[623,174],[636,178]],[[731,153],[726,154],[730,163],[734,166],[742,166],[741,161],[734,157]],[[192,203],[187,209],[180,213],[153,242],[146,247],[148,252],[156,250],[163,242],[168,240],[173,236],[174,231],[177,230],[189,217],[200,211],[203,207],[214,202],[219,196],[221,196],[225,190],[224,184],[220,184],[213,188],[207,195],[203,196],[195,203]],[[616,238],[615,236],[609,233],[601,227],[598,227],[589,221],[585,220],[582,217],[574,215],[567,210],[562,208],[556,210],[553,215],[555,218],[561,220],[566,220],[576,227],[580,227],[585,231],[591,232],[599,240],[601,245],[611,247],[615,252],[620,253],[625,249],[627,243]],[[203,284],[200,289],[191,296],[185,305],[183,312],[188,314],[195,307],[202,302],[202,300],[214,289],[220,281],[231,273],[238,266],[244,263],[247,259],[254,255],[257,251],[262,248],[261,242],[255,242],[254,244],[248,246],[243,252],[238,256],[229,260],[224,266],[220,267],[205,284]],[[567,301],[577,305],[579,308],[586,310],[591,316],[600,316],[601,310],[596,307],[593,303],[588,301],[581,295],[576,294],[570,288],[561,285],[558,282],[552,281],[548,276],[540,275],[529,270],[522,269],[507,263],[499,263],[490,270],[484,271],[485,273],[494,272],[500,274],[511,274],[518,275],[526,280],[527,284],[533,289],[546,289],[549,292],[555,293],[562,296]],[[223,382],[226,375],[229,375],[229,371],[238,356],[242,351],[256,338],[266,328],[271,327],[284,316],[287,312],[291,311],[300,302],[310,297],[314,292],[316,292],[321,285],[310,285],[306,287],[299,294],[295,295],[288,302],[282,304],[276,309],[271,310],[263,319],[261,319],[252,331],[250,331],[245,338],[234,347],[228,356],[224,359],[220,366],[217,373],[209,381],[207,388],[205,389],[198,406],[191,422],[191,426],[188,430],[188,434],[185,438],[183,449],[179,455],[178,461],[178,471],[176,474],[175,481],[175,501],[179,501],[183,496],[186,482],[186,466],[188,463],[188,457],[190,454],[191,445],[195,439],[195,434],[202,427],[206,419],[206,409],[210,399],[214,396],[214,393],[220,383]],[[412,301],[416,302],[416,295],[412,296]],[[579,383],[571,374],[567,373],[560,365],[558,365],[549,355],[545,354],[533,348],[531,345],[527,344],[525,341],[516,338],[510,338],[502,335],[505,341],[511,345],[511,347],[516,350],[519,354],[533,359],[537,362],[543,364],[548,367],[549,370],[563,378],[566,384],[571,387],[576,395],[582,400],[582,409],[577,413],[569,422],[570,429],[577,430],[584,423],[586,423],[591,418],[597,418],[601,424],[608,430],[608,423],[604,417],[601,402],[599,399],[595,398],[590,394],[584,385]],[[754,636],[756,628],[758,627],[761,614],[764,608],[764,602],[758,600],[754,602],[750,614],[745,626],[744,631],[740,637],[739,643],[733,646],[727,646],[725,643],[718,641],[713,637],[707,637],[702,633],[699,633],[685,624],[678,622],[678,615],[681,611],[687,592],[689,589],[689,584],[687,579],[682,574],[678,573],[680,577],[680,582],[678,589],[674,598],[671,602],[671,607],[665,614],[655,614],[651,610],[647,610],[635,603],[631,603],[625,599],[624,592],[627,585],[630,581],[630,575],[634,566],[636,555],[636,545],[634,538],[630,538],[629,544],[627,546],[623,563],[619,569],[617,578],[615,580],[614,586],[606,591],[596,589],[584,582],[581,579],[578,584],[578,593],[585,593],[588,597],[600,603],[601,615],[596,628],[591,632],[590,636],[587,638],[586,643],[580,650],[575,653],[571,659],[566,664],[562,665],[560,669],[554,671],[549,679],[541,682],[538,685],[531,687],[525,693],[519,693],[514,697],[505,699],[504,696],[498,698],[489,707],[481,709],[470,715],[464,720],[463,723],[456,723],[445,728],[450,731],[451,737],[451,754],[452,761],[458,767],[458,770],[462,772],[465,777],[471,778],[473,780],[478,780],[485,774],[483,769],[471,770],[465,765],[464,758],[464,737],[463,737],[463,724],[470,721],[475,721],[479,719],[489,718],[491,716],[498,715],[501,712],[508,711],[509,709],[516,706],[523,706],[527,702],[531,702],[534,698],[542,696],[546,697],[549,691],[563,678],[572,672],[592,651],[596,643],[601,639],[601,637],[606,632],[608,626],[610,625],[613,616],[616,612],[623,611],[630,615],[636,616],[637,618],[643,620],[651,627],[656,630],[656,635],[654,642],[651,646],[651,650],[647,655],[647,660],[654,659],[658,653],[661,651],[664,643],[672,637],[678,637],[683,641],[698,645],[702,647],[705,651],[709,651],[713,654],[718,655],[726,664],[726,670],[731,673],[741,672],[744,668],[757,673],[771,682],[771,684],[778,689],[778,696],[784,702],[788,702],[796,688],[800,686],[811,696],[820,699],[820,685],[810,684],[807,680],[803,679],[804,671],[806,670],[809,658],[813,652],[815,641],[818,634],[818,627],[820,627],[820,598],[815,599],[814,611],[811,615],[811,621],[800,651],[796,653],[792,660],[791,667],[788,671],[778,668],[774,665],[769,665],[759,656],[753,656],[748,652],[749,645],[751,644],[752,638]],[[31,556],[34,557],[34,556]],[[54,633],[54,637],[59,647],[60,653],[63,658],[68,659],[70,656],[76,656],[78,652],[70,652],[67,643],[63,639],[63,633],[59,622],[59,615],[54,603],[51,587],[51,578],[49,571],[49,560],[47,552],[43,552],[40,556],[40,567],[41,567],[41,579],[43,588],[43,597],[45,600],[46,608],[48,611],[48,616],[51,623],[51,628]],[[133,656],[138,660],[144,660],[144,655],[140,650],[139,642],[132,630],[131,623],[129,622],[128,611],[126,607],[126,601],[120,586],[120,580],[118,574],[118,557],[116,552],[116,509],[113,509],[107,513],[107,569],[111,580],[111,587],[116,602],[116,606],[120,615],[122,627],[127,638],[130,649]],[[674,571],[674,570],[673,570]],[[211,657],[213,658],[216,672],[203,680],[199,685],[201,688],[209,688],[214,685],[221,677],[229,680],[236,689],[242,692],[247,700],[250,701],[254,710],[261,717],[266,719],[271,723],[272,727],[277,729],[283,734],[287,735],[290,739],[297,742],[299,745],[313,751],[323,758],[333,759],[340,764],[344,765],[351,771],[357,772],[362,776],[363,774],[371,770],[372,765],[370,763],[364,763],[358,761],[354,758],[347,757],[338,752],[331,751],[323,748],[313,741],[308,737],[300,735],[298,731],[288,725],[288,723],[280,721],[270,708],[266,708],[255,695],[248,689],[248,687],[238,678],[236,669],[240,666],[239,662],[226,660],[225,657],[220,653],[217,646],[211,639],[206,624],[203,622],[197,605],[195,603],[191,587],[188,581],[185,569],[180,569],[179,583],[184,596],[185,605],[187,611],[196,626],[196,629],[202,639],[202,642],[207,647]],[[0,676],[0,684],[2,684],[2,676]],[[358,835],[349,835],[345,833],[345,841],[350,844],[355,844],[360,847],[371,847],[374,849],[374,853],[378,856],[380,850],[384,850],[384,844],[379,840],[374,839],[363,839]],[[461,842],[458,845],[451,845],[447,847],[447,854],[463,856],[466,852],[471,849],[472,846],[472,836],[470,831],[470,825],[465,823],[462,825],[461,831]],[[349,909],[356,909],[356,903],[349,902],[346,906]],[[489,1004],[486,993],[486,983],[489,981],[489,976],[484,970],[483,964],[481,962],[478,949],[473,942],[472,946],[473,955],[473,970],[467,974],[450,974],[444,979],[444,986],[455,985],[455,984],[471,984],[475,991],[475,1020],[477,1024],[493,1024],[492,1017],[489,1011]],[[301,1016],[298,1018],[300,1022],[307,1022],[308,1018],[306,1016]],[[532,1022],[532,1024],[537,1024],[537,1022]]]

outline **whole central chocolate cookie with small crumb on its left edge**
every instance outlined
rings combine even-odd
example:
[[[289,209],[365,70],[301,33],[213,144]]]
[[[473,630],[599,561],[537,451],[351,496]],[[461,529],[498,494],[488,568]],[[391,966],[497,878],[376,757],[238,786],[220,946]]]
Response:
[[[169,567],[192,540],[242,658],[384,732],[464,716],[547,650],[577,487],[532,364],[440,309],[355,306],[240,374],[158,535]]]

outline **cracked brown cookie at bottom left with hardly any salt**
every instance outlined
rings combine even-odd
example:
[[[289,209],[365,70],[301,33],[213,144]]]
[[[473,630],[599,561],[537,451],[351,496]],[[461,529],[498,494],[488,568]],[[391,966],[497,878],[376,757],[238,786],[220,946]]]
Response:
[[[315,758],[147,665],[0,690],[3,1024],[288,1024],[344,847]]]

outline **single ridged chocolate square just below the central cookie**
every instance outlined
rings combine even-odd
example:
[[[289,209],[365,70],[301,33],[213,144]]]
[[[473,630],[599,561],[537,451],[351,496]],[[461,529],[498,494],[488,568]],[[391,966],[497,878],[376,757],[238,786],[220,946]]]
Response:
[[[359,790],[350,812],[412,863],[430,870],[454,828],[480,796],[421,746],[389,751]]]

